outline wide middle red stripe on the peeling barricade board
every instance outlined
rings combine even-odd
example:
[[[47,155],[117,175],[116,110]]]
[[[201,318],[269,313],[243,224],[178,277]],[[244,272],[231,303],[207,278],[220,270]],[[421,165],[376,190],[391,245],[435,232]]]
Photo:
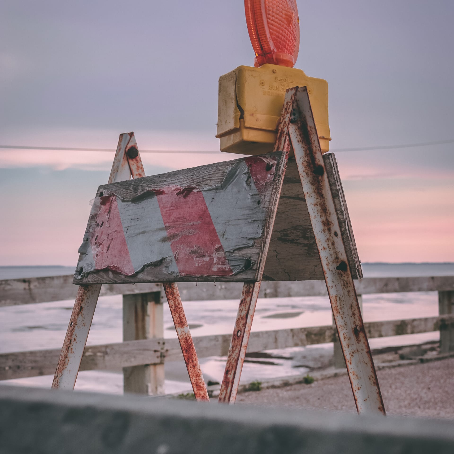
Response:
[[[231,276],[202,192],[167,187],[155,193],[178,271],[191,276]]]

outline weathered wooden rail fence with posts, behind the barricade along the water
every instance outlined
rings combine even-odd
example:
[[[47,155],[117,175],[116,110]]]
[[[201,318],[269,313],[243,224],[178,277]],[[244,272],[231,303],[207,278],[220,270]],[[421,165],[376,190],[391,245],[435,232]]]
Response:
[[[236,299],[242,284],[182,283],[183,301]],[[365,323],[372,338],[440,331],[440,352],[454,350],[454,276],[381,277],[355,281],[358,294],[415,291],[439,292],[439,316]],[[52,276],[0,281],[0,306],[60,301],[75,297],[72,276]],[[163,363],[183,360],[178,339],[163,339],[160,284],[103,285],[101,295],[123,295],[123,337],[121,343],[89,345],[80,370],[123,368],[124,388],[141,394],[163,392]],[[131,297],[134,295],[134,297]],[[261,297],[325,296],[324,281],[264,282]],[[131,311],[136,304],[140,310]],[[135,336],[127,326],[141,327]],[[248,352],[314,345],[335,341],[333,326],[315,326],[251,333]],[[194,337],[197,355],[225,356],[231,334]],[[59,349],[0,354],[0,380],[54,374]]]

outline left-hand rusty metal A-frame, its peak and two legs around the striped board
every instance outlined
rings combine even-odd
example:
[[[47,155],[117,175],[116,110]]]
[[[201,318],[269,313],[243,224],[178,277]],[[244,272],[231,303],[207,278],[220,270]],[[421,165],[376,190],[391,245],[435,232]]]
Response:
[[[143,170],[134,133],[120,134],[109,183],[127,181],[131,177],[135,179],[144,176],[145,171]],[[197,400],[208,400],[207,387],[205,386],[197,354],[192,343],[177,284],[166,283],[164,284],[164,290],[188,368],[194,395]],[[52,388],[74,389],[100,291],[100,284],[79,286]]]

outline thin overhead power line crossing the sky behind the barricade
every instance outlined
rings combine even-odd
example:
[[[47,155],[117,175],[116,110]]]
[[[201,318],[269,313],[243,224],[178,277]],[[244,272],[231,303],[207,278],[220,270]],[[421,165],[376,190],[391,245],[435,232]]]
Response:
[[[333,148],[330,151],[347,152],[347,151],[375,151],[375,150],[397,150],[400,148],[417,148],[432,145],[444,145],[454,143],[454,139],[437,140],[433,142],[405,143],[403,145],[380,145],[375,147],[358,147],[358,148]],[[15,150],[48,150],[48,151],[100,151],[114,152],[113,148],[76,148],[76,147],[35,147],[29,145],[0,145],[1,149]],[[214,154],[220,153],[216,150],[139,150],[140,153],[183,153],[183,154]]]

